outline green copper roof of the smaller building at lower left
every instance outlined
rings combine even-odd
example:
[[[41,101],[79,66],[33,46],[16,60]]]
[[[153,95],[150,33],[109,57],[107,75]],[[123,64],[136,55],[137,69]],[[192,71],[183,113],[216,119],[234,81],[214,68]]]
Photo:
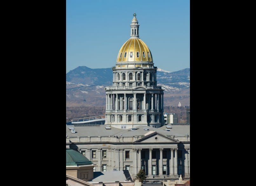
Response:
[[[81,166],[91,164],[92,162],[81,153],[73,149],[66,149],[66,166]]]

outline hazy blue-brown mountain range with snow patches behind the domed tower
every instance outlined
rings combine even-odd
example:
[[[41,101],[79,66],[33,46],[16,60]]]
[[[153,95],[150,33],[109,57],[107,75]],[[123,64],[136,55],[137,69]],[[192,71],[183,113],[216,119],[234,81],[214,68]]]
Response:
[[[113,81],[112,68],[79,66],[66,73],[66,106],[105,105],[105,86]],[[190,69],[168,72],[157,70],[158,86],[165,86],[165,106],[190,105]]]

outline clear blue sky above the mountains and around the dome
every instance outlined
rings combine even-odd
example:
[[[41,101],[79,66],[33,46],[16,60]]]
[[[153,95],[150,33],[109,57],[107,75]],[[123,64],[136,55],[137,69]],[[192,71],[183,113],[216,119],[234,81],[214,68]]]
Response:
[[[66,0],[66,73],[78,66],[115,66],[134,12],[155,66],[189,68],[189,0]]]

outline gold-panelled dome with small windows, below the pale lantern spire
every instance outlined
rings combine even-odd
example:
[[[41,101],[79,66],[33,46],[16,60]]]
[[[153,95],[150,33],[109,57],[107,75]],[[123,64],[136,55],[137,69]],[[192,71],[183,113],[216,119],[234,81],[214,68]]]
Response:
[[[119,50],[117,62],[153,62],[153,59],[151,51],[141,39],[130,38]]]

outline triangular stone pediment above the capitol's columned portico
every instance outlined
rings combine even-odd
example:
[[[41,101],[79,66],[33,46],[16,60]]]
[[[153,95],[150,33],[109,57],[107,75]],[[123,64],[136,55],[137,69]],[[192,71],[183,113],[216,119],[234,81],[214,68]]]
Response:
[[[145,137],[135,141],[135,143],[179,143],[179,141],[165,136],[163,134],[160,134],[158,132],[153,132],[149,135],[146,135]]]

